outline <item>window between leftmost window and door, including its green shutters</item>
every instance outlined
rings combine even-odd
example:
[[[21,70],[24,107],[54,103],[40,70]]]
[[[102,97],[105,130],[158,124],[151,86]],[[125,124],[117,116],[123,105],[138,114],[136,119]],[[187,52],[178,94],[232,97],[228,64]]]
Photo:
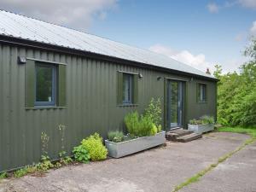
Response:
[[[117,73],[117,103],[120,106],[137,104],[138,97],[138,74]]]

